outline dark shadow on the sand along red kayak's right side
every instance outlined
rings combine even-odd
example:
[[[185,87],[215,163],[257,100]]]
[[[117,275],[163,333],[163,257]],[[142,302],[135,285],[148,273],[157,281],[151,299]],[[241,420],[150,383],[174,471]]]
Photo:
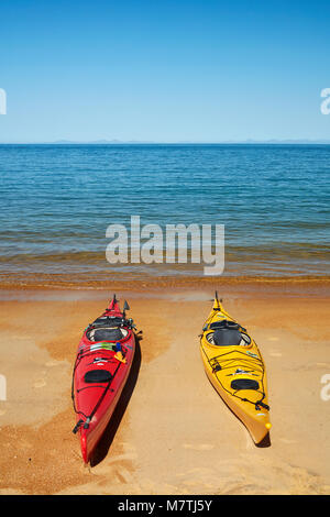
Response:
[[[99,443],[97,444],[96,450],[94,451],[94,454],[90,459],[90,466],[98,465],[108,454],[109,449],[114,439],[114,436],[117,433],[117,430],[122,420],[122,417],[127,410],[128,404],[131,399],[133,389],[138,381],[139,372],[140,372],[140,365],[141,365],[140,341],[141,340],[142,340],[142,337],[135,334],[135,353],[134,353],[134,359],[132,362],[128,381],[123,387],[123,391],[121,393],[120,399],[118,400],[118,404],[112,414],[112,417],[110,418],[110,421],[108,426],[106,427],[102,438],[100,439]]]

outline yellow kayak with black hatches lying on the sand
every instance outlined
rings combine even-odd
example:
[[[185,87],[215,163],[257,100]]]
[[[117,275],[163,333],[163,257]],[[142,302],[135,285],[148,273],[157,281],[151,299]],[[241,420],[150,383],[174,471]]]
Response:
[[[217,293],[202,328],[200,353],[210,382],[260,443],[272,427],[265,365],[254,340],[226,312]]]

